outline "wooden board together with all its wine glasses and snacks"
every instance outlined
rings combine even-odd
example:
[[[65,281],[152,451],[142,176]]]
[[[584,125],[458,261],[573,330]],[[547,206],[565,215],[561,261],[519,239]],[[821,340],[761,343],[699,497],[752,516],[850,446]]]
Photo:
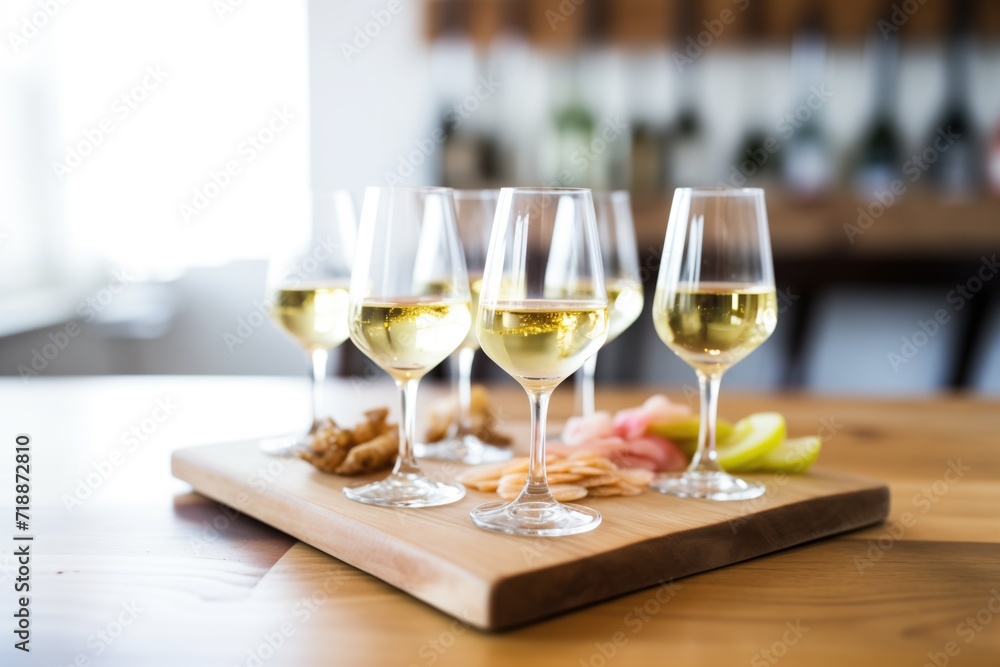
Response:
[[[369,188],[357,223],[343,192],[312,214],[268,284],[313,362],[313,424],[175,453],[198,491],[482,628],[885,518],[883,484],[810,470],[822,443],[780,414],[718,418],[723,374],[777,324],[762,190],[674,195],[651,317],[695,372],[697,414],[662,395],[596,409],[598,352],[645,303],[627,193]],[[395,381],[395,422],[325,414],[348,339]],[[502,423],[472,385],[478,350],[523,387],[530,423]],[[419,382],[449,357],[457,399],[421,416],[421,437]],[[549,399],[574,374],[578,414],[548,442]],[[251,484],[261,466],[281,474]]]

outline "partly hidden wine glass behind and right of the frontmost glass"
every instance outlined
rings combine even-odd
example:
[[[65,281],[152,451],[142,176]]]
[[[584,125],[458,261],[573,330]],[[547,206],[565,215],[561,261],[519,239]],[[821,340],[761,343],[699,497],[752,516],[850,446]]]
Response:
[[[604,282],[608,294],[607,345],[632,326],[642,314],[642,280],[639,278],[639,251],[632,224],[632,204],[625,190],[594,193],[597,234],[604,259]],[[594,414],[594,373],[597,355],[587,359],[576,374],[577,411],[584,417]]]

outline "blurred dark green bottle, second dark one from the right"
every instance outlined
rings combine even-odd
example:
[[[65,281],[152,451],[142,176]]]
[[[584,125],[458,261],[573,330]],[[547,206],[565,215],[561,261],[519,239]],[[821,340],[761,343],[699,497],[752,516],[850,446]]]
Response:
[[[875,113],[861,144],[854,186],[861,197],[871,199],[890,188],[902,169],[899,132],[892,117],[899,42],[894,33],[883,38],[873,31],[867,52],[874,61]]]

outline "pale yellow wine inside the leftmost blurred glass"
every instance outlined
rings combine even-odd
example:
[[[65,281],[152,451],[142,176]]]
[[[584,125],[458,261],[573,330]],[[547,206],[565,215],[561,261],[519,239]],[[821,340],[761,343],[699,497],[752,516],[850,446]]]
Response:
[[[347,340],[348,285],[275,290],[271,319],[307,349],[332,349]]]

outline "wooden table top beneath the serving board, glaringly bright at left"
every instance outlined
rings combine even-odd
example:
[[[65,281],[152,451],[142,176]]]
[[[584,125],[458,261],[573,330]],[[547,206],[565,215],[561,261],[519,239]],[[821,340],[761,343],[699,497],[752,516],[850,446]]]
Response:
[[[423,402],[441,389],[421,392]],[[605,389],[598,404],[635,405],[651,392]],[[348,419],[395,405],[381,380],[340,381],[331,394]],[[526,419],[520,390],[496,395],[512,426]],[[722,414],[779,410],[790,434],[825,439],[819,465],[888,481],[889,522],[499,634],[467,629],[170,477],[177,447],[296,430],[305,382],[9,379],[0,410],[0,505],[12,505],[15,435],[28,433],[35,536],[32,652],[15,651],[7,631],[4,665],[1000,664],[996,401],[723,391]],[[561,390],[552,416],[569,410]],[[12,514],[0,531],[4,615],[18,576]]]

